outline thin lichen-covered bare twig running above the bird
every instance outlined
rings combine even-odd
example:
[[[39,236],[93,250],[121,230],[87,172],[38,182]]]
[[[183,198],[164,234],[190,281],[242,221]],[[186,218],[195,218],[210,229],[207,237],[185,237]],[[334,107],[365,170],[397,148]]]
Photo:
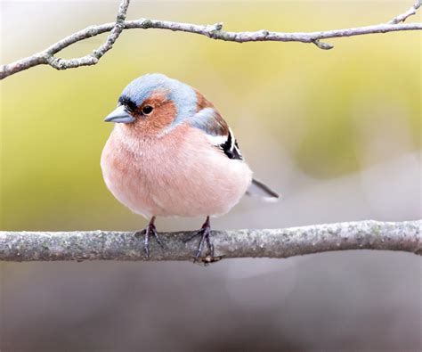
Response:
[[[51,45],[40,53],[28,56],[27,58],[14,61],[7,65],[0,67],[0,79],[11,76],[22,70],[28,70],[37,65],[50,65],[57,70],[66,70],[76,68],[79,66],[94,65],[98,63],[102,55],[111,49],[111,46],[118,39],[118,36],[123,29],[169,29],[174,31],[183,31],[210,37],[213,39],[224,40],[236,43],[256,42],[256,41],[277,41],[277,42],[301,42],[312,43],[319,48],[329,50],[333,45],[322,43],[321,40],[336,38],[336,37],[353,37],[376,33],[387,33],[402,30],[421,30],[422,23],[408,23],[403,24],[404,20],[415,14],[420,7],[420,0],[418,0],[407,12],[394,18],[388,23],[378,24],[374,26],[359,27],[353,29],[336,29],[323,32],[298,32],[298,33],[283,33],[272,32],[266,29],[255,32],[226,32],[223,31],[223,24],[216,23],[214,25],[199,25],[191,23],[171,22],[166,20],[128,20],[125,21],[127,6],[129,0],[123,0],[119,6],[118,19],[114,23],[105,23],[98,26],[91,26],[80,30],[77,33],[62,39],[61,41]],[[54,55],[59,53],[65,47],[77,43],[89,37],[98,36],[101,33],[109,32],[110,36],[106,43],[95,50],[93,53],[85,55],[84,57],[75,59],[61,59]]]

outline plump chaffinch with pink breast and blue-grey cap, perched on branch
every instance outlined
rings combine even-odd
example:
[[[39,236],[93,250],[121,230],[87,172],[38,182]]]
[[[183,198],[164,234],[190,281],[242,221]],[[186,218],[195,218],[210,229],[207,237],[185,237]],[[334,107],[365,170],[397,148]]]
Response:
[[[149,219],[136,235],[158,237],[157,217],[206,217],[194,256],[207,244],[211,257],[210,217],[228,213],[244,194],[277,201],[279,194],[253,177],[233,131],[199,91],[164,74],[135,78],[105,119],[114,127],[101,153],[101,170],[114,197]]]

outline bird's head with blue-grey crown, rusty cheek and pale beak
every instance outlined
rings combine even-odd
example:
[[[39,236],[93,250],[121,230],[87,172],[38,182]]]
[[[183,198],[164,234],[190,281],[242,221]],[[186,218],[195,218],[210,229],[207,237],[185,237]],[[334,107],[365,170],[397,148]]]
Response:
[[[195,90],[178,80],[154,73],[134,79],[118,98],[106,122],[124,124],[138,134],[163,135],[197,111]]]

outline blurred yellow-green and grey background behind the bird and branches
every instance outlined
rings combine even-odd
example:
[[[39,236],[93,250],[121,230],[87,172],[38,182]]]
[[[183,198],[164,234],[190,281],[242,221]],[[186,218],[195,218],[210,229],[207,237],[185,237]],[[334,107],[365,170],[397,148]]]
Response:
[[[136,2],[127,19],[226,30],[377,24],[409,1]],[[1,62],[115,20],[118,1],[1,3]],[[420,21],[413,16],[409,21]],[[60,53],[70,58],[106,35]],[[277,204],[244,199],[216,229],[421,217],[421,34],[243,45],[126,30],[96,66],[36,67],[1,82],[3,230],[138,230],[106,189],[101,149],[126,84],[162,72],[229,122]],[[203,219],[158,219],[158,230]],[[377,251],[191,263],[2,263],[2,351],[422,349],[421,260]]]

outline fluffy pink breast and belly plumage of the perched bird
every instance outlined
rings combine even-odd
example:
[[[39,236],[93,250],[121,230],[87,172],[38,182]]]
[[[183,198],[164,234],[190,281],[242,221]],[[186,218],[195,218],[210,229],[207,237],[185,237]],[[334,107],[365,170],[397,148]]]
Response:
[[[231,160],[199,129],[183,124],[161,138],[136,138],[117,125],[101,156],[113,195],[145,217],[227,213],[248,190],[252,171]]]

